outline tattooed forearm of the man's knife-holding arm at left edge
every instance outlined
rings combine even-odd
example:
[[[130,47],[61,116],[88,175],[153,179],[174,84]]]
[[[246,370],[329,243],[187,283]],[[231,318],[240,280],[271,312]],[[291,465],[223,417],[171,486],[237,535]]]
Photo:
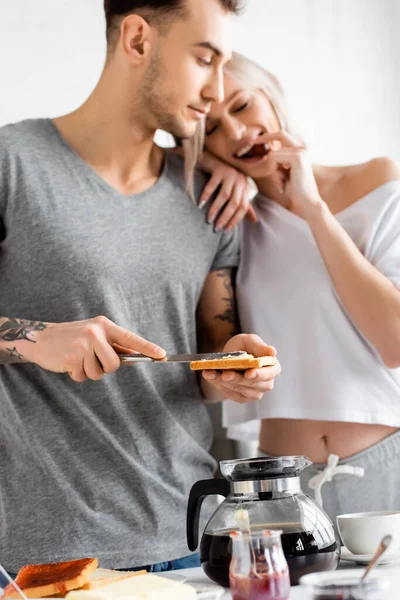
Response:
[[[29,362],[27,342],[35,344],[35,333],[48,327],[41,321],[0,317],[0,364]]]

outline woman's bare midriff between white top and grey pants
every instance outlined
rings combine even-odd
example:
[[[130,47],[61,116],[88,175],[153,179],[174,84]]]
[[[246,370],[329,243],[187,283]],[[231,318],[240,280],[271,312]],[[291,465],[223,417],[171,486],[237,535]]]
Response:
[[[273,456],[306,455],[326,463],[330,454],[346,458],[377,444],[398,430],[386,425],[265,419],[261,424],[260,450]]]

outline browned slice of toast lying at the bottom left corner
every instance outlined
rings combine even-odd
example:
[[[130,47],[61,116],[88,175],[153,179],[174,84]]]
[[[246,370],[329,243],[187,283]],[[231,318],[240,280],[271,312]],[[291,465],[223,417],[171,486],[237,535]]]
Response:
[[[18,571],[16,584],[27,598],[64,596],[69,590],[82,587],[89,581],[89,575],[97,568],[97,558],[80,558],[66,562],[27,565]],[[9,583],[4,589],[4,598],[19,598],[15,588]]]

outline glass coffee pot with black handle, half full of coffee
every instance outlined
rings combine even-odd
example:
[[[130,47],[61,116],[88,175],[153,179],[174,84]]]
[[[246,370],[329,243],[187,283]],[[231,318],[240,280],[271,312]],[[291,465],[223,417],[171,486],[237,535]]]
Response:
[[[230,534],[238,531],[236,511],[248,511],[251,532],[282,531],[282,547],[292,585],[303,575],[336,569],[340,545],[328,515],[303,493],[300,473],[311,464],[304,456],[247,458],[220,462],[225,479],[198,481],[191,489],[187,541],[198,547],[201,504],[211,494],[224,496],[208,521],[200,542],[200,559],[210,579],[229,586]]]

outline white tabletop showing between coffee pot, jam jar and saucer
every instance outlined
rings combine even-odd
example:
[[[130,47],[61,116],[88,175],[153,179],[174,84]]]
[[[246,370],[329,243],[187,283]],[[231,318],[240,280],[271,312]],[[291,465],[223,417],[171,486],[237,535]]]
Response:
[[[364,567],[358,567],[357,565],[355,565],[353,563],[341,562],[341,563],[339,563],[339,565],[340,565],[339,566],[340,569],[356,568],[357,570],[360,571],[360,577],[364,571]],[[376,568],[379,570],[383,570],[383,569],[387,570],[388,576],[392,580],[391,589],[386,594],[385,600],[399,600],[399,597],[400,597],[400,592],[399,592],[399,589],[400,589],[400,565],[389,564],[389,565],[378,566]],[[179,575],[183,575],[184,577],[187,577],[188,584],[190,584],[190,582],[210,583],[210,580],[208,579],[207,575],[204,573],[204,571],[201,567],[198,567],[195,569],[180,569],[177,571],[173,571],[173,573],[177,573]],[[227,590],[223,596],[223,600],[230,600],[231,598],[232,598],[232,596],[231,596],[230,592]],[[307,593],[305,592],[304,588],[297,585],[297,586],[292,586],[292,588],[290,590],[290,600],[309,600],[309,597],[308,597]]]

